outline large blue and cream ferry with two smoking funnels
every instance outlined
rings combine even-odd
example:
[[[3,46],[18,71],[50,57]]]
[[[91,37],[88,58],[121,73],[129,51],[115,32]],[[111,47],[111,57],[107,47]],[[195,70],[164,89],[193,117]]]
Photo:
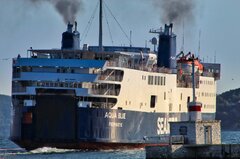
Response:
[[[169,134],[169,122],[188,120],[192,73],[202,118],[215,119],[220,64],[177,54],[172,29],[151,31],[159,37],[156,52],[103,46],[102,31],[99,46],[81,48],[77,23],[69,23],[61,49],[30,49],[30,57],[14,58],[11,140],[28,150],[156,144]]]

